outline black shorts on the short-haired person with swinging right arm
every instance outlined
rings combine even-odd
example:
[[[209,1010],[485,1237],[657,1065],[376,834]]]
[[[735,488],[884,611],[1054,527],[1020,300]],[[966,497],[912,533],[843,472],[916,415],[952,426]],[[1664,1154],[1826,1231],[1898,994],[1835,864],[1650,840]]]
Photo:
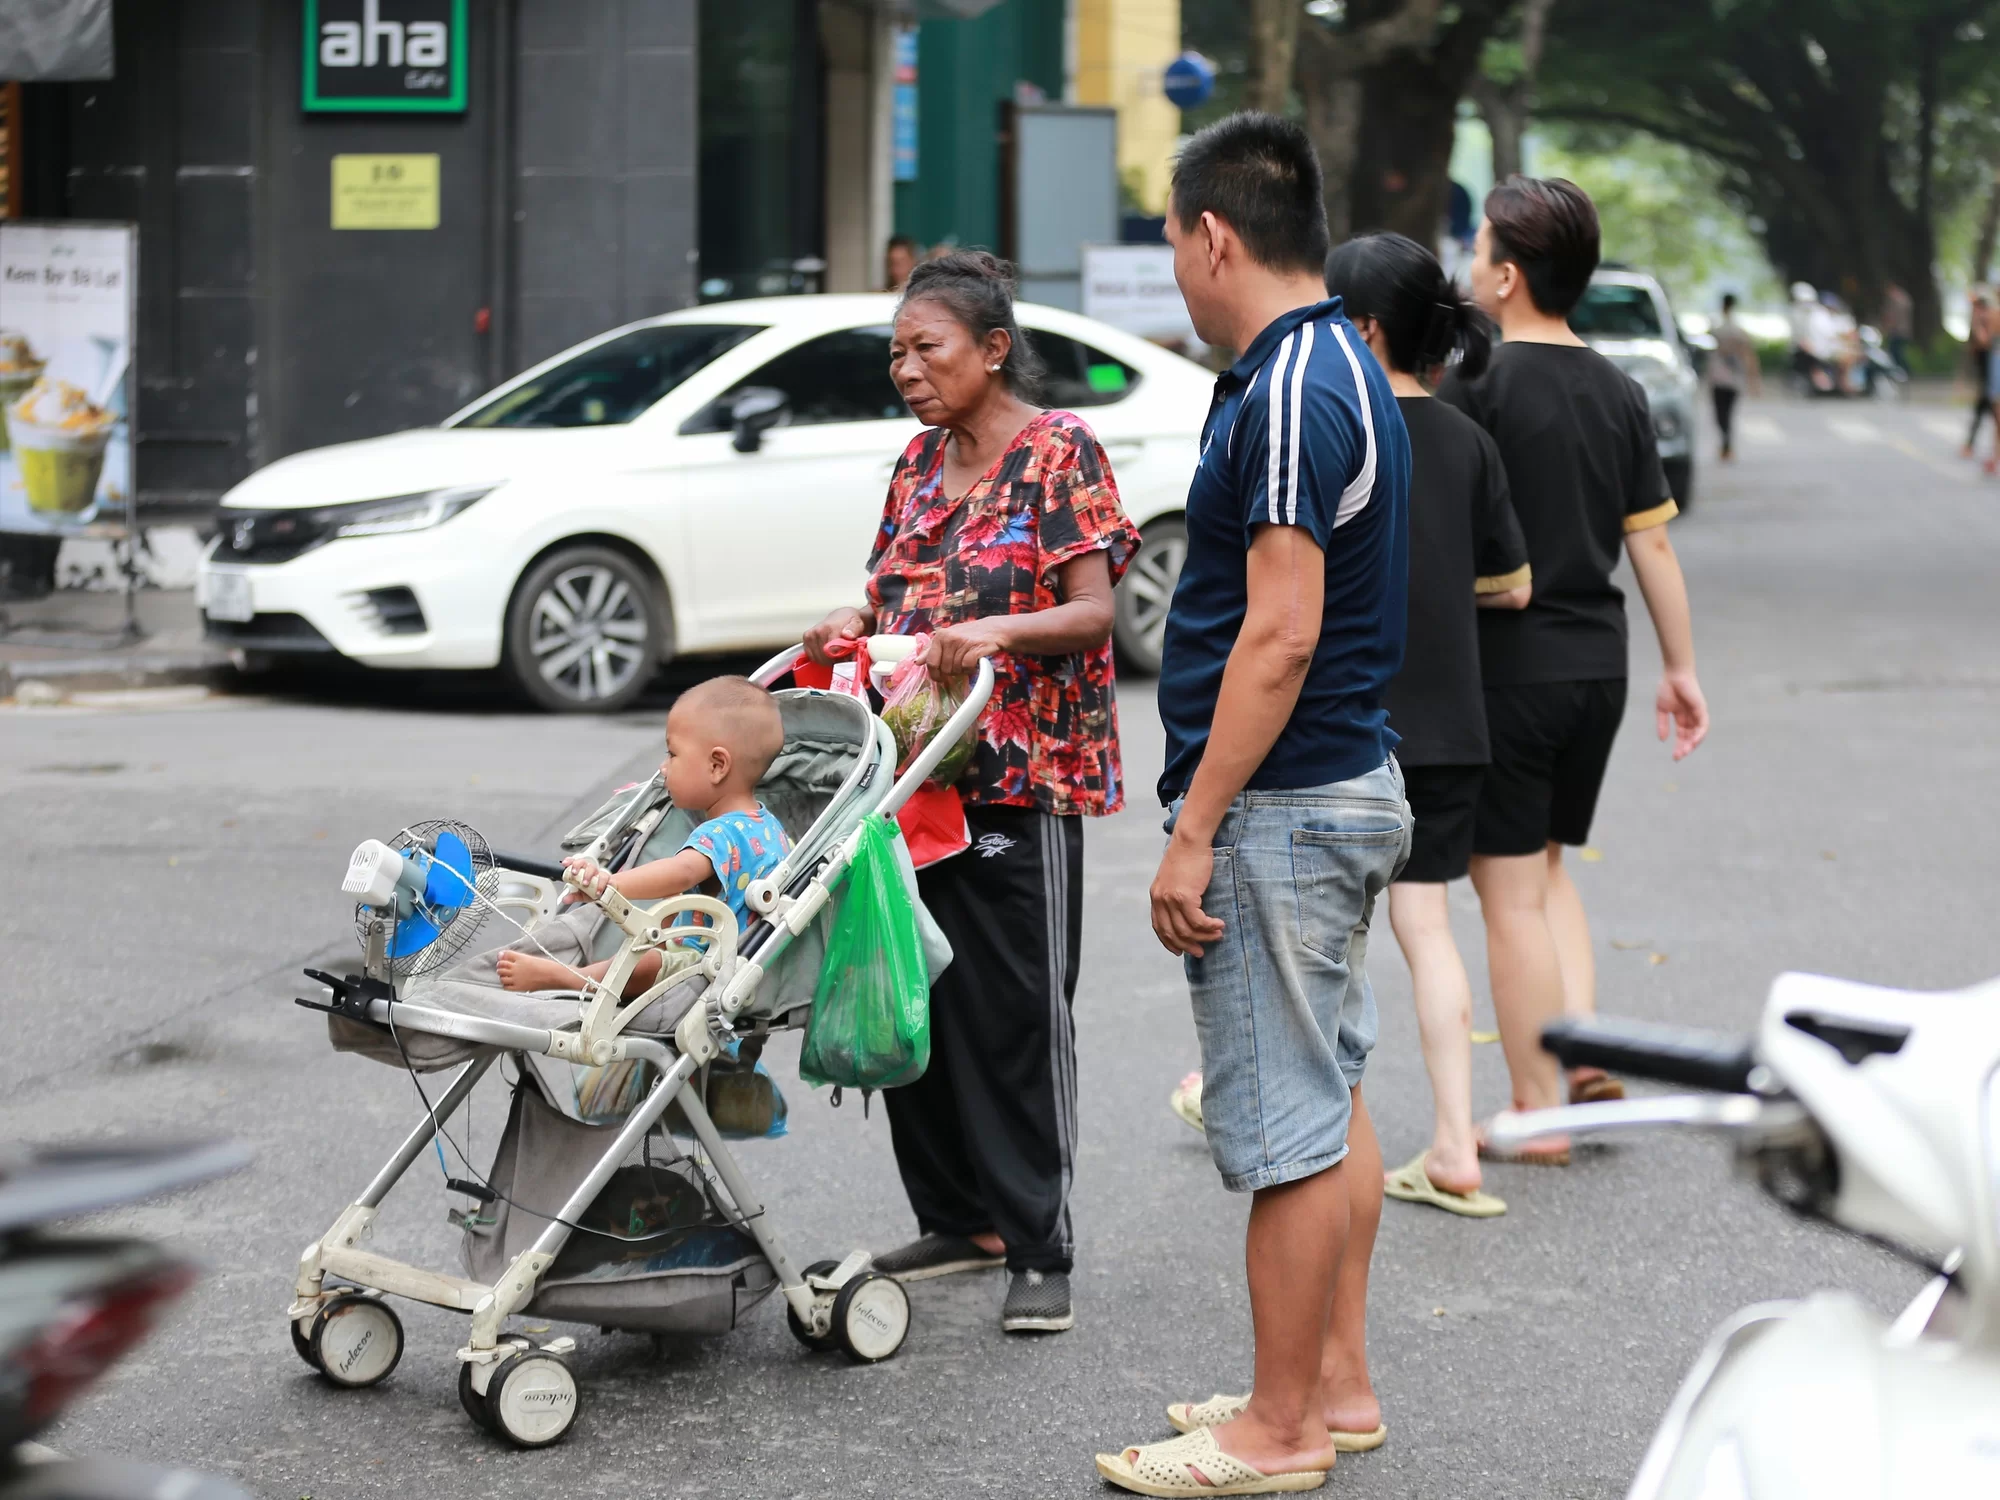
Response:
[[[1540,854],[1590,838],[1624,690],[1624,678],[1486,688],[1492,764],[1480,786],[1474,854]]]

